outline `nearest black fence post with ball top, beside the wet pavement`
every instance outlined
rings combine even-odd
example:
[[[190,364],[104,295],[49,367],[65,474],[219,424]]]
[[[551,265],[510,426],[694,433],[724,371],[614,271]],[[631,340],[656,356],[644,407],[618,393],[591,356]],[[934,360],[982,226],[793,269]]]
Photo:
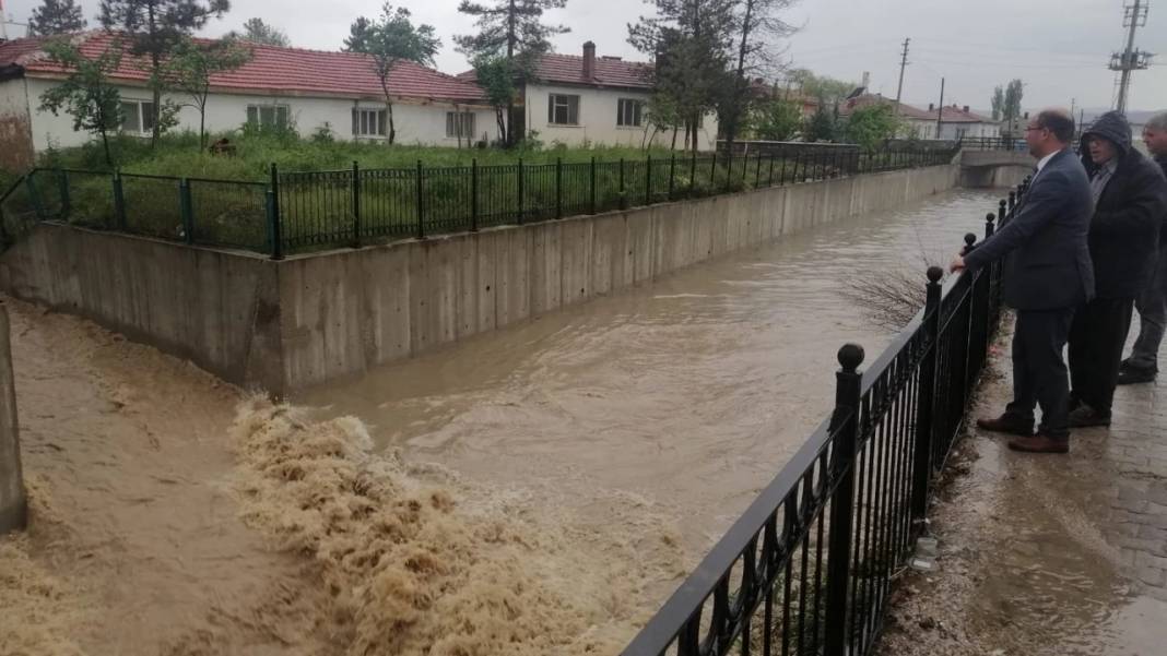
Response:
[[[851,583],[851,534],[854,520],[855,449],[859,442],[864,348],[847,344],[839,348],[839,365],[834,375],[834,415],[831,432],[834,445],[831,458],[831,478],[838,481],[831,495],[831,528],[826,555],[826,616],[824,626],[825,656],[845,656],[847,650],[847,590]],[[799,646],[802,647],[802,646]]]

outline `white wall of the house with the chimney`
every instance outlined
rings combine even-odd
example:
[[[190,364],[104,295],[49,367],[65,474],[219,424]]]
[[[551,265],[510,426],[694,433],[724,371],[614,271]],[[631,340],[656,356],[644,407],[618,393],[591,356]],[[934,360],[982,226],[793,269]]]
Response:
[[[579,96],[576,125],[558,125],[548,121],[547,104],[552,94]],[[638,148],[644,143],[645,135],[652,136],[647,106],[641,114],[640,126],[620,126],[617,125],[617,114],[621,99],[640,100],[647,104],[649,93],[622,89],[529,84],[524,107],[526,129],[539,133],[538,139],[547,144],[559,141],[568,146],[579,146],[588,141],[595,146],[633,146]],[[700,131],[699,148],[713,149],[717,146],[717,118],[710,114],[705,117]],[[677,137],[678,148],[684,146],[684,133],[679,134]],[[656,134],[654,143],[668,147],[672,143],[672,133]]]

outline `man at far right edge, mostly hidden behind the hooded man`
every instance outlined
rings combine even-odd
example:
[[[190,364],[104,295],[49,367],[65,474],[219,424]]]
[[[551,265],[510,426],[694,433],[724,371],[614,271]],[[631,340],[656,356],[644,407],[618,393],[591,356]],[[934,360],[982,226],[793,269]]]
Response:
[[[1142,142],[1167,176],[1167,112],[1160,112],[1142,127]],[[1131,357],[1123,360],[1118,385],[1151,382],[1159,373],[1159,345],[1167,329],[1167,217],[1159,233],[1159,263],[1147,288],[1134,299],[1139,311],[1139,338]]]

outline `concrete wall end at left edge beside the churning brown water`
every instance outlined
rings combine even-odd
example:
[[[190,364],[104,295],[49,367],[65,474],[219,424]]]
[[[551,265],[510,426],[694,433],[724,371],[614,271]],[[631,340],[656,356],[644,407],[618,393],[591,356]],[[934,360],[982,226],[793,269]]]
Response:
[[[8,327],[8,309],[0,304],[0,535],[23,528],[27,515]]]

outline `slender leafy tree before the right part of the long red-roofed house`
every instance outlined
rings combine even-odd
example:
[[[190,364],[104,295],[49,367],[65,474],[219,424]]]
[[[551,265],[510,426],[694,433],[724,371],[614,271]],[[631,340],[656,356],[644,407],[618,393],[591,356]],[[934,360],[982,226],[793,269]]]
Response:
[[[385,93],[385,111],[389,114],[389,142],[397,137],[393,124],[393,99],[389,92],[389,78],[400,62],[415,62],[433,65],[434,55],[441,49],[441,40],[435,36],[433,26],[414,26],[405,7],[393,8],[386,2],[382,6],[380,17],[369,20],[364,16],[354,21],[349,31],[351,36],[344,41],[350,52],[364,52],[372,58],[373,71],[380,79],[380,89]]]

